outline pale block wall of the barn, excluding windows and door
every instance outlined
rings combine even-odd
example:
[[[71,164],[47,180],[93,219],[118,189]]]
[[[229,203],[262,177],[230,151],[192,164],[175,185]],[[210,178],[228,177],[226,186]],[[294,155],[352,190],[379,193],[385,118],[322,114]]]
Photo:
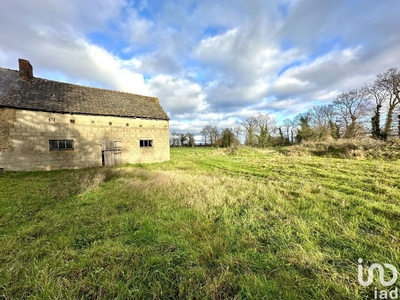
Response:
[[[103,140],[121,141],[122,163],[170,158],[168,121],[7,109],[7,113],[0,111],[0,122],[4,128],[0,131],[0,169],[4,170],[101,166]],[[49,140],[73,140],[74,150],[50,151]],[[140,140],[153,140],[153,147],[141,148]]]

